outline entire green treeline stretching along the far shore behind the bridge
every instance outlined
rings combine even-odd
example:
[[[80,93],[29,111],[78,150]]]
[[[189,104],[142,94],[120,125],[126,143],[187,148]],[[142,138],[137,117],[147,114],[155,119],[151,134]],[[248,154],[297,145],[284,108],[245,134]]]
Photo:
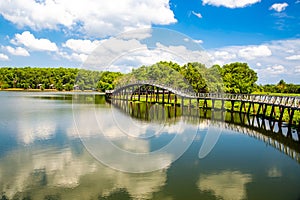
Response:
[[[1,89],[79,89],[103,92],[128,82],[153,80],[198,93],[300,93],[300,85],[287,84],[283,80],[274,85],[257,85],[257,79],[256,72],[247,63],[239,62],[207,68],[198,62],[180,66],[174,62],[161,61],[133,69],[128,74],[76,68],[0,68]]]

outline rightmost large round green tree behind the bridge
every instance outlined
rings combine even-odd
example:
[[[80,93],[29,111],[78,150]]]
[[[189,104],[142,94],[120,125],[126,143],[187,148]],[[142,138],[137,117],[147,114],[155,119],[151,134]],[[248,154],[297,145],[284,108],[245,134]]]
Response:
[[[231,63],[222,67],[225,92],[251,93],[254,91],[257,73],[247,63]]]

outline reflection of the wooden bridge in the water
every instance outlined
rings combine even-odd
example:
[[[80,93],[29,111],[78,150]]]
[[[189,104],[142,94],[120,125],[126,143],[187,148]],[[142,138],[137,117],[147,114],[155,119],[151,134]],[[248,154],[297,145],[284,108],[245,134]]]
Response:
[[[162,104],[134,103],[111,100],[111,104],[123,113],[145,121],[176,123],[180,119],[195,125],[213,125],[243,133],[265,142],[300,163],[300,133],[291,126],[279,124],[246,113],[226,112],[224,110],[196,109],[191,107],[165,106]]]

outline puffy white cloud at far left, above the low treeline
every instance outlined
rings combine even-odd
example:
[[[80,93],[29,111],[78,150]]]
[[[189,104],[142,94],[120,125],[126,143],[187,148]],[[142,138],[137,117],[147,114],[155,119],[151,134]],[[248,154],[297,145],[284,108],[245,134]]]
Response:
[[[16,34],[11,43],[17,45],[24,45],[32,51],[57,51],[58,48],[55,43],[48,39],[35,38],[29,31],[24,31],[22,34]]]

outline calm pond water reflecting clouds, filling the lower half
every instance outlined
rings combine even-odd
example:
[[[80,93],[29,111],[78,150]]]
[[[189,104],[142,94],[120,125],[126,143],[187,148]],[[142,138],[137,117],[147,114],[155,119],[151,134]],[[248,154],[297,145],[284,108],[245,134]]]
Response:
[[[300,199],[293,129],[92,93],[0,103],[0,199]]]

